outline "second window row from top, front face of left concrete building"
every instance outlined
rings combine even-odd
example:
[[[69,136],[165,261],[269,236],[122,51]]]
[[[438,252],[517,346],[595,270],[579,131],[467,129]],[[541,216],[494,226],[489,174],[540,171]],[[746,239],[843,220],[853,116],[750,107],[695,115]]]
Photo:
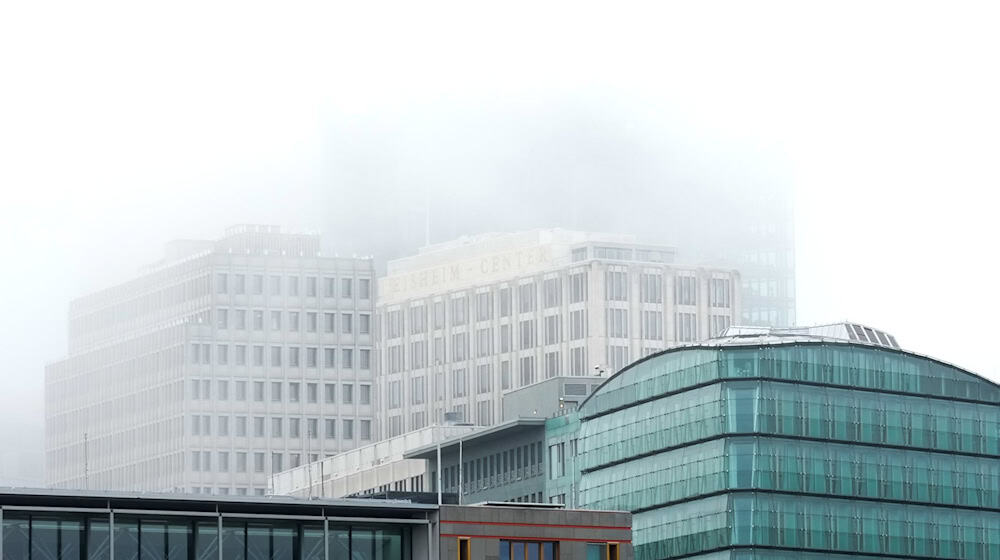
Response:
[[[265,325],[268,332],[287,330],[289,332],[319,332],[319,321],[323,320],[323,332],[339,334],[355,334],[355,314],[318,311],[281,311],[272,309],[265,314],[263,309],[239,309],[220,307],[215,309],[215,328],[220,330],[234,329],[238,331],[263,331]],[[266,319],[266,321],[265,321]],[[371,334],[372,317],[370,313],[357,314],[357,333]],[[249,325],[249,326],[248,326]]]

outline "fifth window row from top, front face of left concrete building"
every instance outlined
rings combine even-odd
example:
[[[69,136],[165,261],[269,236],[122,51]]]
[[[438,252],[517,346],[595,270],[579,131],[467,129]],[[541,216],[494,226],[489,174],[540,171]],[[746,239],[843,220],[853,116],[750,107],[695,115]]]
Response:
[[[193,436],[211,436],[212,435],[212,416],[207,414],[195,414],[191,417],[191,435]],[[230,418],[232,418],[233,429],[230,432],[229,424]],[[309,439],[319,438],[319,426],[321,419],[319,418],[296,418],[296,417],[275,417],[271,416],[270,430],[268,430],[268,417],[265,416],[219,416],[215,419],[215,435],[217,436],[229,436],[234,435],[236,437],[272,437],[272,438],[300,438],[303,437],[303,432],[305,437]],[[252,424],[251,424],[252,422]],[[323,419],[323,437],[326,439],[336,439],[337,437],[337,420],[335,418]],[[341,439],[351,440],[354,439],[354,420],[345,419],[341,420],[342,431],[340,433]],[[359,438],[362,440],[371,439],[371,420],[359,420]]]

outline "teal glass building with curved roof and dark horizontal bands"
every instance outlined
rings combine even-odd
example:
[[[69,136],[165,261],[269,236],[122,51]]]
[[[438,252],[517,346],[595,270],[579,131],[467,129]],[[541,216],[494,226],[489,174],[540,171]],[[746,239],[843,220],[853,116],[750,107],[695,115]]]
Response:
[[[578,505],[632,512],[637,560],[1000,559],[1000,386],[852,327],[621,370],[578,411]]]

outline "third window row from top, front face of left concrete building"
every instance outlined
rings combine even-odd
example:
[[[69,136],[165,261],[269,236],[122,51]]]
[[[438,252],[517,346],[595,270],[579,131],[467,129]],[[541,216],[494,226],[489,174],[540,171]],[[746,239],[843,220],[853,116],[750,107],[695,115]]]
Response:
[[[212,344],[192,343],[189,352],[190,363],[194,365],[215,365],[219,366],[253,366],[253,367],[276,367],[283,365],[288,367],[323,367],[331,369],[337,367],[337,348],[318,348],[316,346],[264,346],[263,344],[216,344],[213,360]],[[371,349],[360,348],[357,350],[358,369],[371,369]],[[342,369],[354,369],[354,348],[340,348],[340,367]],[[323,357],[322,366],[320,356]]]

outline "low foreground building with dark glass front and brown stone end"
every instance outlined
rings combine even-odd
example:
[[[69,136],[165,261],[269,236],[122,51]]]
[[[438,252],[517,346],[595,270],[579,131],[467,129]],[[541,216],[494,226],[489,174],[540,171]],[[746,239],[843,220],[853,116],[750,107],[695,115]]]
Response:
[[[0,558],[631,560],[630,521],[529,506],[22,490],[0,492]]]

